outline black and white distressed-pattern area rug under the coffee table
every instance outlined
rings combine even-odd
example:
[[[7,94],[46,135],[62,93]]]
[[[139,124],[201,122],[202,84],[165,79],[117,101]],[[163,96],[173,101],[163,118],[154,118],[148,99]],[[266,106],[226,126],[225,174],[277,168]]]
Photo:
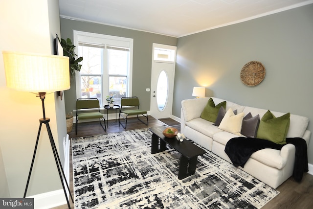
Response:
[[[180,154],[151,154],[148,129],[74,138],[72,153],[76,209],[255,209],[279,194],[209,151],[179,180]]]

